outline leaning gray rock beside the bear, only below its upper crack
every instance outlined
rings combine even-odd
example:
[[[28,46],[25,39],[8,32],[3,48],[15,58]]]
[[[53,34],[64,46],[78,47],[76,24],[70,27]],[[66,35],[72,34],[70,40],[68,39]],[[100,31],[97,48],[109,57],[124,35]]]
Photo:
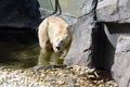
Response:
[[[73,64],[87,65],[87,61],[89,61],[87,59],[89,52],[83,51],[86,49],[89,49],[90,45],[91,45],[91,28],[89,28],[88,25],[86,24],[86,20],[82,21],[78,18],[77,24],[74,26],[73,42],[64,63],[67,65]]]

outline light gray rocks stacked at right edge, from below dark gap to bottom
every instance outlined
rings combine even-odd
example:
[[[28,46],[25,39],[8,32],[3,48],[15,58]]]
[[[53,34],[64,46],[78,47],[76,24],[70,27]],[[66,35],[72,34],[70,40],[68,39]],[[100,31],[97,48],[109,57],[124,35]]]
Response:
[[[112,66],[114,78],[119,87],[130,87],[130,36],[120,35]]]

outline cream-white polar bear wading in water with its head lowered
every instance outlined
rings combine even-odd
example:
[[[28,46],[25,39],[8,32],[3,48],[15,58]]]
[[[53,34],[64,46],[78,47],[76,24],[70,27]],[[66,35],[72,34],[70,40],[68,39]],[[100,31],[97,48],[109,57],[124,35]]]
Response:
[[[62,64],[72,44],[72,32],[68,24],[57,16],[49,16],[41,22],[38,30],[41,51],[38,65]]]

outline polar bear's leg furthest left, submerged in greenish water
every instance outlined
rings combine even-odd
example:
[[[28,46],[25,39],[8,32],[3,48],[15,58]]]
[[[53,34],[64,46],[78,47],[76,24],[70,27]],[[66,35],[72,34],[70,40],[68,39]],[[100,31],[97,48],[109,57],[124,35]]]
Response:
[[[50,64],[51,55],[52,55],[52,51],[41,49],[40,54],[39,54],[39,59],[38,59],[38,65]]]

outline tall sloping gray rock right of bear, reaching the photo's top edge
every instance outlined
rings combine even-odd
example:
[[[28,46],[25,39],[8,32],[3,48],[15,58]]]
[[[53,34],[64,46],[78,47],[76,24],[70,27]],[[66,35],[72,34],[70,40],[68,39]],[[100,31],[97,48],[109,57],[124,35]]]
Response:
[[[94,26],[93,9],[95,5],[93,3],[93,0],[84,1],[78,21],[73,27],[73,42],[64,61],[67,65],[90,65],[91,63],[91,57],[89,54],[91,54],[91,34],[92,27]]]

